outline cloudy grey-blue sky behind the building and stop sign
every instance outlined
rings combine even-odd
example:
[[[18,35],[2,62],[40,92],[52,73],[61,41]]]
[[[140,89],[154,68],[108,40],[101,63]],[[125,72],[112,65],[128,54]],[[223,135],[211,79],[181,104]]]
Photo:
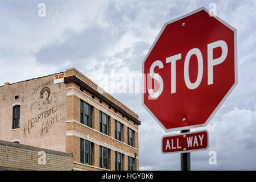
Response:
[[[46,16],[38,16],[45,3]],[[192,170],[256,170],[256,1],[0,1],[0,85],[75,67],[108,90],[108,76],[140,74],[163,24],[215,3],[237,29],[238,85],[207,127],[209,148],[191,153]],[[117,82],[127,83],[125,80]],[[140,93],[113,93],[139,114],[141,170],[180,170],[163,155],[166,133],[141,105]],[[217,164],[210,165],[209,152]]]

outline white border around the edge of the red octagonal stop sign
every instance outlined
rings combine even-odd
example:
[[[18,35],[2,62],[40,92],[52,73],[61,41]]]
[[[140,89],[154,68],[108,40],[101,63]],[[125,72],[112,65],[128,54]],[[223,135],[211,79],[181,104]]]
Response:
[[[158,41],[160,35],[162,35],[164,29],[166,28],[166,26],[170,23],[176,22],[177,20],[183,19],[189,15],[195,14],[201,10],[206,11],[207,13],[209,13],[209,11],[207,9],[205,9],[205,7],[200,7],[199,9],[192,11],[191,13],[185,14],[183,16],[180,16],[179,18],[176,18],[174,20],[171,20],[170,22],[167,22],[164,24],[162,30],[159,32],[158,36],[155,39],[155,42],[152,44],[150,50],[147,52],[147,55],[145,56],[144,60],[142,61],[142,73],[144,73],[144,62],[146,61],[148,55],[150,54],[150,52],[152,51],[152,48],[155,46],[156,42]],[[191,125],[191,126],[184,126],[184,127],[176,127],[174,129],[166,129],[166,127],[164,127],[162,125],[162,123],[158,120],[158,118],[155,117],[155,115],[150,111],[150,109],[148,109],[148,107],[144,104],[144,90],[142,92],[142,106],[148,111],[148,113],[150,113],[150,115],[159,123],[159,125],[164,129],[164,131],[168,132],[168,131],[178,131],[178,130],[188,130],[188,129],[193,129],[196,127],[204,127],[207,126],[207,124],[209,123],[210,119],[212,119],[213,115],[217,112],[217,110],[220,108],[220,106],[224,103],[224,101],[226,100],[226,98],[229,96],[229,94],[232,92],[232,90],[236,87],[237,83],[238,83],[238,72],[237,72],[237,30],[236,28],[230,26],[230,24],[226,23],[224,20],[218,18],[218,16],[212,16],[214,18],[216,18],[219,22],[225,24],[226,27],[230,28],[230,30],[232,30],[234,32],[234,73],[235,73],[235,82],[233,84],[233,86],[229,89],[228,93],[226,93],[226,95],[222,98],[221,102],[218,104],[218,106],[214,109],[214,111],[212,112],[212,114],[210,114],[209,118],[207,119],[207,121],[204,124],[200,124],[200,125]],[[142,89],[144,89],[144,78],[142,79]]]

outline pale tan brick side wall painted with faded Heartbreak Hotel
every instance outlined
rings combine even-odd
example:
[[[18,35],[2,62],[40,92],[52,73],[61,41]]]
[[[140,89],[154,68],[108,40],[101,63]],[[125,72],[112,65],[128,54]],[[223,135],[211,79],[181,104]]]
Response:
[[[48,100],[41,96],[46,89]],[[21,103],[20,128],[12,130],[15,102]],[[65,152],[65,105],[65,84],[53,84],[53,75],[1,86],[0,139]]]

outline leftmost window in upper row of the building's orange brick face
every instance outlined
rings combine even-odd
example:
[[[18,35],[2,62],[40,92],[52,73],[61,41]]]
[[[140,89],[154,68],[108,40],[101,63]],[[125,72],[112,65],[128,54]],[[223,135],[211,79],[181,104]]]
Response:
[[[82,100],[80,102],[80,122],[92,127],[92,106]]]

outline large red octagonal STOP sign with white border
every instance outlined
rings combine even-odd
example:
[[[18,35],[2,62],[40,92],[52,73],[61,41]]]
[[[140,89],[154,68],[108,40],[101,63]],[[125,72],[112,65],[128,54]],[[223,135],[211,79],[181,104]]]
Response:
[[[206,126],[237,85],[236,29],[202,7],[164,24],[142,69],[142,104],[164,130]]]

